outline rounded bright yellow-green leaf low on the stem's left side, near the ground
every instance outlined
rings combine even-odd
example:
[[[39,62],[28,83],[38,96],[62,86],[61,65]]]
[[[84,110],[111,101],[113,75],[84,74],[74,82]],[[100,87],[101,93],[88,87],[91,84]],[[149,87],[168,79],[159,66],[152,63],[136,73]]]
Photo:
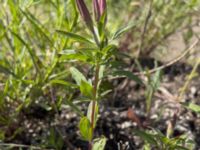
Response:
[[[90,141],[92,139],[92,128],[87,117],[83,117],[79,123],[79,130],[84,140]]]

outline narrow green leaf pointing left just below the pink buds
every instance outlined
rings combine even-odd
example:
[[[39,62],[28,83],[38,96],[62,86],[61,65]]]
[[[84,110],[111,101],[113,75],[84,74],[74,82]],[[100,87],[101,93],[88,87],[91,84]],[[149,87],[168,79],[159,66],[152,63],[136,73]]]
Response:
[[[61,31],[61,30],[56,30],[58,33],[68,37],[68,38],[71,38],[73,40],[76,40],[77,42],[82,42],[82,43],[86,43],[86,44],[94,44],[92,43],[90,40],[86,39],[85,37],[83,36],[80,36],[78,34],[75,34],[75,33],[71,33],[71,32],[67,32],[67,31]]]

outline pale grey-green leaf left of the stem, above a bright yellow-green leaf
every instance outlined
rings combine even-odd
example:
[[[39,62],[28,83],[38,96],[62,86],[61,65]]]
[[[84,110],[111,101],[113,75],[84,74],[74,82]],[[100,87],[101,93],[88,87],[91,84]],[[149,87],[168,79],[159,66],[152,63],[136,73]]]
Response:
[[[75,67],[71,67],[70,68],[70,72],[72,74],[72,78],[76,81],[77,85],[80,85],[81,81],[86,81],[87,82],[85,76],[78,69],[76,69]]]

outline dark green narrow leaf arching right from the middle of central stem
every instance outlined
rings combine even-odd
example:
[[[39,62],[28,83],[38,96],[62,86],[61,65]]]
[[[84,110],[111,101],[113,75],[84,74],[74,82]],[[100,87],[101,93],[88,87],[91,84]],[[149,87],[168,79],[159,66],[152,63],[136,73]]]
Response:
[[[112,75],[114,75],[114,76],[125,76],[125,77],[128,77],[131,80],[136,81],[139,84],[143,84],[142,80],[130,71],[115,71]]]

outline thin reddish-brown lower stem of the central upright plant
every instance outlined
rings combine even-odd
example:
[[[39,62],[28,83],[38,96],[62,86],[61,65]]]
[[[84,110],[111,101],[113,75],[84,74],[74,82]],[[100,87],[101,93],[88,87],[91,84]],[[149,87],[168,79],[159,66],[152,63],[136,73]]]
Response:
[[[92,115],[91,115],[91,128],[92,128],[92,137],[94,134],[94,124],[95,124],[95,106],[97,103],[97,86],[99,83],[99,64],[96,65],[96,70],[95,70],[95,79],[94,79],[94,91],[93,91],[93,95],[94,95],[94,99],[92,101]],[[89,141],[89,150],[92,150],[92,140]]]

